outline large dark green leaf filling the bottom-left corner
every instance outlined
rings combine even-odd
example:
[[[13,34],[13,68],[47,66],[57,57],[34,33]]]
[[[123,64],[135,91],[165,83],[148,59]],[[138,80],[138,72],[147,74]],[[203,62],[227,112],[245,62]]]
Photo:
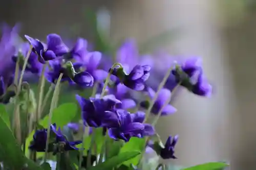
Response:
[[[43,170],[33,161],[26,158],[2,117],[0,117],[0,134],[3,135],[0,138],[0,157],[5,165],[11,169],[26,167],[28,170]]]

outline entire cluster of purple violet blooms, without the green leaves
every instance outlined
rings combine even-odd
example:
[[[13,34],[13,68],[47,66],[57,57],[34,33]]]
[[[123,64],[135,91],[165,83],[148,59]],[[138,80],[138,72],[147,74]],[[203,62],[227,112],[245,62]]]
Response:
[[[11,36],[10,33],[8,35]],[[144,138],[145,148],[156,149],[155,144],[150,144],[154,138],[152,136],[157,135],[155,124],[160,116],[177,111],[170,104],[177,87],[184,87],[200,96],[211,95],[211,85],[203,74],[201,60],[198,58],[166,63],[168,71],[161,75],[163,79],[158,82],[157,73],[160,68],[154,61],[155,57],[140,56],[134,41],[125,41],[117,51],[114,61],[119,63],[113,62],[112,67],[106,68],[106,65],[112,62],[104,62],[102,66],[100,61],[110,59],[102,58],[104,55],[98,51],[89,51],[88,42],[83,38],[78,38],[71,48],[57,34],[49,34],[46,43],[28,35],[25,35],[25,38],[27,42],[18,45],[13,45],[11,38],[8,40],[10,46],[14,46],[14,50],[8,51],[11,56],[8,63],[22,70],[20,76],[25,72],[25,76],[40,76],[40,79],[46,79],[55,85],[51,108],[57,103],[54,97],[59,95],[59,92],[56,92],[59,83],[67,82],[69,86],[77,86],[82,90],[93,88],[90,98],[76,94],[83,123],[81,129],[84,131],[85,127],[89,127],[91,136],[94,135],[94,129],[102,128],[102,135],[106,138],[125,143],[130,142],[132,138]],[[19,75],[15,74],[14,69],[10,72],[12,74],[8,76],[4,71],[0,72],[0,103],[3,104],[8,104],[10,98],[19,94],[18,88],[16,91],[10,90],[13,84],[18,85],[13,79],[18,79]],[[158,85],[157,88],[155,84]],[[40,112],[40,107],[38,110],[37,112]],[[49,117],[51,114],[52,111]],[[153,117],[153,123],[148,123],[149,116]],[[35,131],[30,150],[53,153],[78,150],[76,145],[82,143],[81,140],[70,141],[60,129],[56,129],[56,124],[50,122],[49,125],[51,126],[48,129],[40,128]],[[67,127],[75,133],[80,129],[77,123],[69,123]],[[163,159],[176,159],[174,151],[177,141],[178,135],[169,136],[164,147],[158,145],[156,152]]]

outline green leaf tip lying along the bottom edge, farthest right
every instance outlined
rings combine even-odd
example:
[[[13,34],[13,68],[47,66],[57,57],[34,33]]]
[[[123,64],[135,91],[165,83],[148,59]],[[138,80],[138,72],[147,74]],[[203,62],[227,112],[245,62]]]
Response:
[[[208,162],[208,163],[204,163],[196,166],[187,167],[182,170],[220,170],[227,166],[228,164],[224,162]]]

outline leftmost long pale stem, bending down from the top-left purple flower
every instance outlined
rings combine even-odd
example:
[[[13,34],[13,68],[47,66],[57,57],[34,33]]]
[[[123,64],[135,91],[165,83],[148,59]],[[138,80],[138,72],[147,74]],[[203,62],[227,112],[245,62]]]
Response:
[[[20,72],[20,77],[19,77],[19,81],[18,81],[18,86],[17,86],[17,91],[16,91],[16,97],[15,97],[15,102],[14,102],[14,114],[13,114],[13,118],[14,118],[14,126],[13,126],[13,130],[15,131],[15,134],[16,134],[16,138],[17,138],[17,141],[19,144],[22,143],[22,132],[20,131],[20,115],[19,115],[19,93],[20,93],[20,90],[22,88],[22,81],[23,81],[23,76],[24,76],[24,73],[25,73],[25,69],[26,69],[26,66],[27,66],[27,63],[28,63],[28,59],[30,57],[30,53],[31,53],[31,50],[32,50],[32,46],[30,46],[29,48],[29,51],[28,51],[28,54],[24,60],[24,64],[23,64],[23,67],[22,67],[22,72]],[[18,61],[17,61],[18,62]],[[18,64],[17,64],[18,65]],[[18,66],[17,66],[18,68]],[[15,70],[16,71],[16,70]],[[18,77],[18,73],[15,72],[15,81],[17,81],[17,78]],[[16,83],[16,82],[14,82]]]

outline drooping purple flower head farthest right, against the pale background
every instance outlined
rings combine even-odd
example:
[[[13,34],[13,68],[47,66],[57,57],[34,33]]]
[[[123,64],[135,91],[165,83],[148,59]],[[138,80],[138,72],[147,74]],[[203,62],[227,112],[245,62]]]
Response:
[[[203,75],[200,59],[190,58],[178,65],[172,73],[175,76],[176,82],[179,82],[181,86],[194,94],[201,96],[211,95],[212,87]]]

